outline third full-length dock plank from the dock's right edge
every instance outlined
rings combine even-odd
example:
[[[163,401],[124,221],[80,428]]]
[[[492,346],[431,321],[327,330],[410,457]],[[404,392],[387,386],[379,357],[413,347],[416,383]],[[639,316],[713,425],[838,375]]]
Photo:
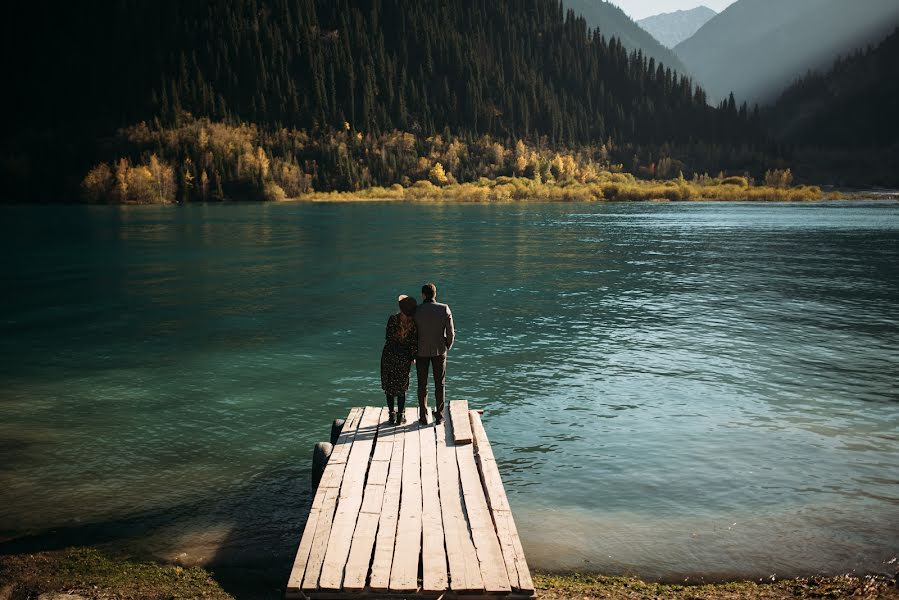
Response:
[[[454,591],[483,591],[481,567],[468,531],[462,508],[459,466],[453,442],[451,421],[435,428],[437,442],[437,475],[440,483],[440,510],[449,563],[449,587]]]

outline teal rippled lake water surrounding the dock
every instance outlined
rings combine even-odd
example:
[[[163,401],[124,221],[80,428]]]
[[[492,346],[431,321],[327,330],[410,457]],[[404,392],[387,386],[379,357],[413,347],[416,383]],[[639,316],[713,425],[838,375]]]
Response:
[[[899,203],[8,207],[0,233],[7,550],[286,578],[312,446],[383,401],[387,316],[433,280],[532,567],[896,570]]]

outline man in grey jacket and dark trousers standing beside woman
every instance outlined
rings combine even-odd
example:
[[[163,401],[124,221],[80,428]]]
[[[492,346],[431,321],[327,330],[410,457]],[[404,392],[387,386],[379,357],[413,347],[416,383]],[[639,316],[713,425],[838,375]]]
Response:
[[[453,313],[449,306],[440,304],[437,286],[426,283],[421,286],[421,304],[415,311],[418,326],[418,356],[415,370],[418,373],[418,419],[428,422],[428,367],[434,369],[434,396],[437,403],[435,422],[443,422],[443,404],[446,399],[446,353],[453,347]]]

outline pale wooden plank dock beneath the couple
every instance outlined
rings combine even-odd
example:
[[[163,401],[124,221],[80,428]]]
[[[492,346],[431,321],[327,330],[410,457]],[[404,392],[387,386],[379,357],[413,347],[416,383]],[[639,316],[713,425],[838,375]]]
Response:
[[[450,402],[350,410],[328,459],[287,598],[532,598],[534,584],[477,411]]]

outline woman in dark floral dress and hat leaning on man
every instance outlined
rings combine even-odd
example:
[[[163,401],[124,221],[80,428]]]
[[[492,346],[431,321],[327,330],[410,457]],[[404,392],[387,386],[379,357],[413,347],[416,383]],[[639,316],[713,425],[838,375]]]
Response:
[[[409,389],[409,370],[418,353],[418,327],[415,326],[415,298],[405,294],[397,299],[399,312],[387,319],[384,349],[381,351],[381,389],[387,396],[390,422],[406,422],[406,390]],[[394,399],[396,410],[394,410]]]

